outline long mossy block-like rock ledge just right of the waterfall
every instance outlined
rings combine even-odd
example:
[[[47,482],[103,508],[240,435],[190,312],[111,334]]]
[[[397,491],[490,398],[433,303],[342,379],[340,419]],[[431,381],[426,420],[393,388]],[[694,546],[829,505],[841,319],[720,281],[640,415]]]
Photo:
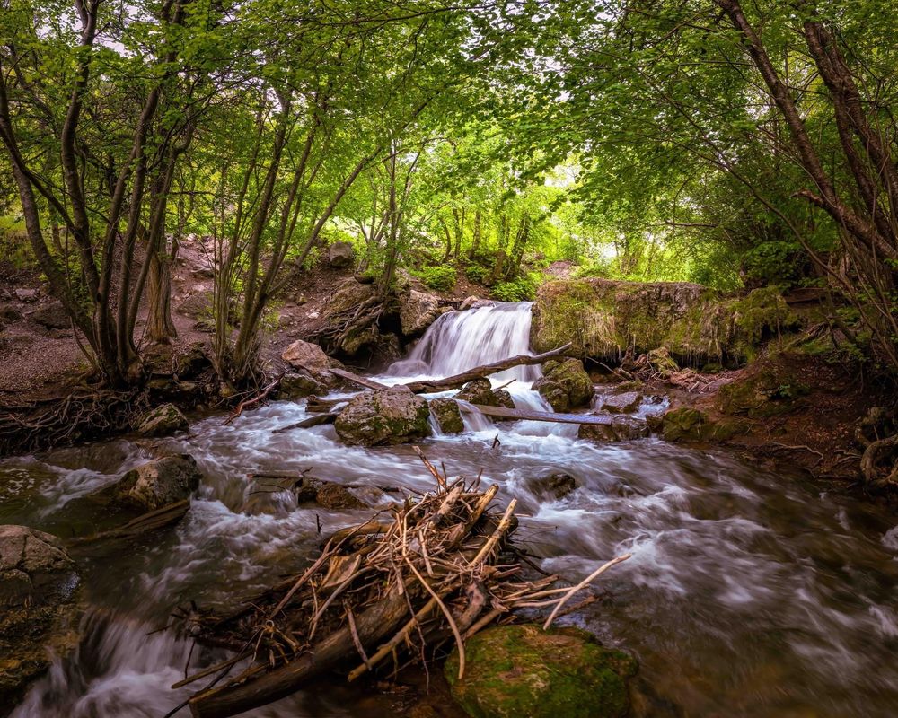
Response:
[[[571,342],[571,352],[617,361],[665,347],[679,363],[753,358],[763,339],[794,328],[796,316],[775,289],[725,296],[688,282],[584,278],[541,285],[531,343],[544,352]]]

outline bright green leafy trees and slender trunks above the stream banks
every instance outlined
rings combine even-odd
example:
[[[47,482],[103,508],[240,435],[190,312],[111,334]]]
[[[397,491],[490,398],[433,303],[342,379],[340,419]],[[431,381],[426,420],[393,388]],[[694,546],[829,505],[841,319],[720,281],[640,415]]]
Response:
[[[5,0],[0,231],[116,385],[140,308],[174,332],[189,234],[234,384],[334,241],[383,296],[404,268],[525,300],[559,260],[814,286],[898,368],[896,24],[885,0]]]

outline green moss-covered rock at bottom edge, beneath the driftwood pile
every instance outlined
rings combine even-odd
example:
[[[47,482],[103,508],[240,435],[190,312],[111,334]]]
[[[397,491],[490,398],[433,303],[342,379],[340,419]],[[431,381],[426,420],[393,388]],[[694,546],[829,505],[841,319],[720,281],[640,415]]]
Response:
[[[465,644],[465,659],[459,680],[453,652],[445,677],[472,718],[622,718],[637,671],[627,653],[578,628],[496,626]]]

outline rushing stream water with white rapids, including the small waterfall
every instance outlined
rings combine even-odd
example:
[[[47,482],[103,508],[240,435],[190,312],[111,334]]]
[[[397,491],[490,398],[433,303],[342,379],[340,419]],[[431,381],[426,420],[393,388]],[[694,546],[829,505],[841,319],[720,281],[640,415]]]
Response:
[[[451,312],[379,381],[445,376],[528,351],[530,306]],[[493,378],[519,407],[545,407],[530,388],[538,368]],[[651,407],[640,407],[645,413]],[[300,570],[322,531],[368,512],[299,508],[286,492],[253,494],[246,475],[301,471],[357,487],[430,488],[410,447],[343,445],[332,426],[272,433],[305,416],[277,402],[232,425],[208,416],[186,437],[120,439],[0,461],[0,522],[57,535],[100,517],[77,499],[162,448],[189,452],[206,479],[180,525],[122,552],[79,556],[92,609],[75,655],[56,661],[16,718],[154,716],[189,695],[170,690],[210,657],[153,633],[195,599],[225,605]],[[762,471],[718,451],[656,439],[603,444],[577,427],[492,424],[424,442],[452,474],[476,475],[516,496],[516,535],[545,570],[577,580],[632,552],[603,577],[604,600],[562,619],[635,652],[650,687],[649,715],[886,718],[898,714],[898,520],[800,477]],[[498,439],[494,447],[494,440]],[[557,501],[528,481],[554,472],[580,486]],[[389,502],[389,495],[385,501]],[[197,684],[200,686],[202,684]],[[376,716],[390,712],[348,688],[304,691],[251,715]],[[185,710],[182,714],[187,715]],[[180,715],[180,714],[179,714]]]

